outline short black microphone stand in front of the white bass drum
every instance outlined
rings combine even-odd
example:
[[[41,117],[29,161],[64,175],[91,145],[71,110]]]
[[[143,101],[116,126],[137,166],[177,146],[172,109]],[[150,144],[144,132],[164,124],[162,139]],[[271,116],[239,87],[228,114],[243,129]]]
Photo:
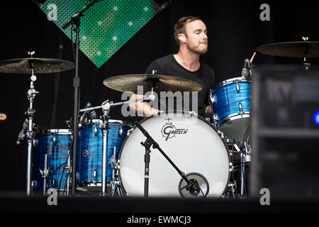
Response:
[[[150,148],[151,147],[156,148],[157,150],[159,150],[160,153],[162,153],[162,155],[164,155],[167,161],[169,161],[169,163],[174,167],[174,169],[177,170],[179,175],[186,181],[187,185],[189,185],[189,187],[187,187],[188,189],[194,189],[194,188],[200,189],[200,187],[198,186],[198,184],[196,184],[196,182],[193,182],[187,179],[184,172],[181,172],[181,170],[179,170],[179,168],[174,164],[174,162],[172,162],[172,160],[169,159],[169,157],[159,147],[158,143],[155,142],[155,140],[150,136],[150,134],[147,133],[145,128],[143,128],[140,125],[140,123],[136,121],[135,126],[137,126],[140,129],[140,131],[142,131],[143,135],[145,135],[145,137],[147,138],[144,143],[143,142],[140,143],[142,146],[145,147],[145,155],[144,155],[144,161],[145,161],[144,196],[145,198],[148,197],[149,172],[150,172],[150,168],[149,168],[150,167]]]

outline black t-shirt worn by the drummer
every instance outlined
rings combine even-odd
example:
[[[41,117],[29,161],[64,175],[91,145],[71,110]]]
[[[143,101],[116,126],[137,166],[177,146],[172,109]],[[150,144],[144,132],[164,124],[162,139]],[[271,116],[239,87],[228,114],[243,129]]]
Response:
[[[200,92],[198,92],[198,111],[196,111],[196,107],[192,107],[192,94],[191,92],[189,93],[189,104],[186,104],[184,106],[184,100],[188,100],[183,96],[183,109],[188,111],[196,111],[198,112],[198,115],[203,116],[205,112],[205,106],[209,105],[208,103],[208,92],[209,89],[212,89],[215,86],[215,74],[214,71],[211,67],[206,65],[203,62],[200,62],[201,66],[199,69],[195,72],[191,72],[189,70],[186,70],[184,67],[179,65],[177,60],[175,59],[174,55],[167,55],[165,57],[159,58],[155,61],[153,61],[149,67],[147,67],[147,70],[145,71],[146,74],[152,74],[153,70],[156,70],[155,74],[162,74],[162,75],[167,75],[167,76],[174,76],[174,77],[181,77],[184,79],[189,79],[191,81],[197,82],[198,84],[201,85],[203,89],[201,89]],[[183,95],[187,95],[184,92],[181,92]],[[160,96],[160,94],[157,94]],[[196,97],[196,96],[194,96]],[[167,106],[167,103],[164,103],[163,99],[160,101],[160,97],[158,100],[158,109],[159,110],[171,110],[169,106]],[[166,106],[164,106],[166,105]],[[189,106],[187,106],[189,105]],[[176,99],[174,100],[174,110],[179,109],[177,107],[178,105],[176,104]]]

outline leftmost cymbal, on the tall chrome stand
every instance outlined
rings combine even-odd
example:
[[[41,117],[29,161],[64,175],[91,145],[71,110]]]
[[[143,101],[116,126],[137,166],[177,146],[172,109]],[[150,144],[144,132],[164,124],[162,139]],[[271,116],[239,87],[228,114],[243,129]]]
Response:
[[[34,74],[62,72],[74,69],[74,62],[38,57],[0,61],[0,72],[3,73],[31,74],[31,67]]]

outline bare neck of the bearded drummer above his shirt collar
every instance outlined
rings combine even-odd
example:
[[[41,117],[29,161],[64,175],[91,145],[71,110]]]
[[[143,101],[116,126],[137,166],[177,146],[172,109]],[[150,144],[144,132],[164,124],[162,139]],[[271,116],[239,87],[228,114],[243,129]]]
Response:
[[[197,71],[201,66],[201,63],[199,62],[199,55],[195,52],[180,49],[179,52],[174,55],[174,57],[179,65],[191,72]]]

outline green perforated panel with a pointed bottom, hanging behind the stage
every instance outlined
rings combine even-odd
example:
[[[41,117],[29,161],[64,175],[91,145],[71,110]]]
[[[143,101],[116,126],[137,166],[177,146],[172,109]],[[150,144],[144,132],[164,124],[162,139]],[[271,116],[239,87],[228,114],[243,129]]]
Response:
[[[48,0],[40,9],[71,39],[72,26],[66,29],[62,26],[87,3],[86,0]],[[81,18],[79,48],[99,68],[157,12],[150,0],[98,1]],[[75,32],[72,33],[75,43]]]

